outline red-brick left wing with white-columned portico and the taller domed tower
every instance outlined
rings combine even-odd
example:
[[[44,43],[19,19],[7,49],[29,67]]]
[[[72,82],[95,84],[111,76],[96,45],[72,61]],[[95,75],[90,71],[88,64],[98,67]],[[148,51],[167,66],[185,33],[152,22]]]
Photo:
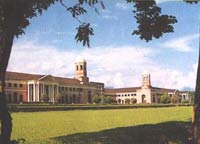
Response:
[[[32,103],[44,99],[52,103],[92,103],[93,96],[104,91],[104,84],[89,81],[85,59],[77,58],[75,67],[75,78],[7,72],[8,103]]]

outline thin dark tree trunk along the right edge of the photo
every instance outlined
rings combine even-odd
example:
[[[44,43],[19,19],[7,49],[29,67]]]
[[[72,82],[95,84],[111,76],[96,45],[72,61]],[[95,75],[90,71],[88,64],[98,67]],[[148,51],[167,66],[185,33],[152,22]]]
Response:
[[[199,61],[197,68],[192,127],[193,127],[194,144],[199,144],[200,143],[200,46],[199,46]]]

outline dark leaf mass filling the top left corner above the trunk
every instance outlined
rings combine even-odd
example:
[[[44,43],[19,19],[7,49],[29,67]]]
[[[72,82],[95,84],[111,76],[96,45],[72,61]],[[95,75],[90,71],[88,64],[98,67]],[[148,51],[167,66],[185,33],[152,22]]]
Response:
[[[30,19],[42,14],[51,4],[58,0],[1,0],[0,1],[0,32],[7,28],[15,36],[24,34]]]

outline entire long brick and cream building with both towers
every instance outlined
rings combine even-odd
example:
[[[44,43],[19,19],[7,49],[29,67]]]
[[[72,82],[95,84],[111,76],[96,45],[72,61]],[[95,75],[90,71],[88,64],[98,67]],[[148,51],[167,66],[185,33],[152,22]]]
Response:
[[[93,103],[95,95],[111,96],[118,104],[131,103],[133,98],[137,103],[159,103],[163,94],[176,95],[179,102],[189,100],[186,91],[153,87],[149,73],[142,75],[140,87],[105,89],[104,83],[89,81],[87,62],[81,57],[75,62],[75,78],[7,72],[6,93],[9,103],[86,104]]]

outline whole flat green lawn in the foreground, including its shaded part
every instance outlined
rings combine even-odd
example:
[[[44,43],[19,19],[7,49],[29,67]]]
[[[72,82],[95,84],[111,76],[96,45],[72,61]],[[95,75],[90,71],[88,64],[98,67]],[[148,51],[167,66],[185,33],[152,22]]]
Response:
[[[174,144],[188,138],[192,107],[12,113],[12,139],[31,144]]]

